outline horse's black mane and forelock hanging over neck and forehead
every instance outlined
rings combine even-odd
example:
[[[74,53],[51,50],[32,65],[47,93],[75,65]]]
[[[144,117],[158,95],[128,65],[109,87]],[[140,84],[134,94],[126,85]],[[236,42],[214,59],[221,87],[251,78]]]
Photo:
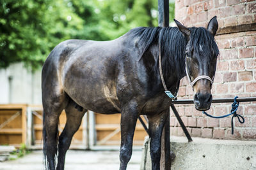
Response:
[[[204,27],[191,27],[190,50],[201,54],[204,57],[212,57],[211,50],[218,55],[219,50],[214,37]],[[177,27],[137,27],[129,31],[133,38],[138,38],[136,46],[140,48],[140,58],[150,45],[157,43],[161,45],[161,57],[163,64],[163,74],[170,75],[175,71],[177,77],[181,79],[185,76],[185,47],[186,38]],[[199,50],[200,46],[207,50]],[[208,50],[211,48],[211,50]],[[191,52],[191,51],[190,51]],[[154,66],[154,71],[158,70],[158,62]]]

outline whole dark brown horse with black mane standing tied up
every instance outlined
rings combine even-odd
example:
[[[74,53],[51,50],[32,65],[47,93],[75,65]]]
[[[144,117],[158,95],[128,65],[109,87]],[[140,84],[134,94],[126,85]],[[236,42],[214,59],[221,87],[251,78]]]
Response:
[[[161,134],[173,99],[164,91],[175,96],[187,73],[196,110],[209,110],[219,54],[216,17],[207,29],[175,23],[138,27],[111,41],[69,39],[54,47],[42,68],[45,169],[64,169],[72,136],[88,110],[121,113],[121,170],[131,159],[136,121],[147,115],[152,169],[160,168]],[[63,110],[67,123],[59,136]]]

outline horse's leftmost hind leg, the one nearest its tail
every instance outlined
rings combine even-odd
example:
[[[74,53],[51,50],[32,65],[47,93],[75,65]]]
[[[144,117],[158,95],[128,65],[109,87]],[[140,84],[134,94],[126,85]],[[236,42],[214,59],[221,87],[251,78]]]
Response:
[[[43,107],[44,107],[44,155],[45,168],[55,169],[56,155],[58,145],[58,122],[61,111],[67,105],[67,96],[65,92],[43,93]]]

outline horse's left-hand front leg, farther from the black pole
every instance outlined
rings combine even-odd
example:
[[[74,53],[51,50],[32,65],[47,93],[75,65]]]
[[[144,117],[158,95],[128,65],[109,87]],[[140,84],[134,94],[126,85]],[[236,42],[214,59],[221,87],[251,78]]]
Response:
[[[131,159],[132,140],[137,119],[137,103],[132,101],[122,108],[121,112],[120,170],[125,170]]]

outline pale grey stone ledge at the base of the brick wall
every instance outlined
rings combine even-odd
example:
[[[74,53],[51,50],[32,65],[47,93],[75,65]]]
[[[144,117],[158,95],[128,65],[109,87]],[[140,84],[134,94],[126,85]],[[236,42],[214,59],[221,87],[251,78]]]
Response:
[[[173,169],[222,170],[256,169],[256,141],[218,140],[193,138],[188,143],[184,137],[171,136],[171,150],[175,153]],[[147,145],[147,141],[145,141]],[[149,148],[148,146],[145,149]],[[143,155],[146,162],[141,169],[151,169],[149,149]]]

